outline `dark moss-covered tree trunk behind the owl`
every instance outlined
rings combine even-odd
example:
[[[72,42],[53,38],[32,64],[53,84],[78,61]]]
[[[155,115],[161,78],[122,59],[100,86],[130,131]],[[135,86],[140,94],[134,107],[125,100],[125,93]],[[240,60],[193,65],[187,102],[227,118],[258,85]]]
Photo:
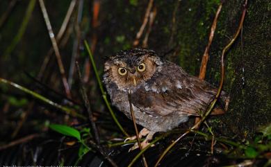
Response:
[[[165,24],[167,29],[174,28],[174,60],[189,73],[199,73],[200,61],[208,41],[208,33],[219,1],[178,1],[176,25]],[[175,5],[176,6],[176,5]],[[255,132],[259,125],[271,120],[271,53],[270,53],[270,1],[249,1],[243,30],[238,40],[226,55],[226,81],[224,90],[229,92],[231,101],[229,111],[224,116],[213,119],[213,128],[222,134],[238,134],[247,137]],[[172,11],[172,8],[161,5]],[[211,45],[210,60],[206,80],[218,85],[220,80],[220,57],[222,48],[236,32],[243,1],[225,1],[218,19],[215,37]],[[159,19],[164,18],[162,15]],[[170,19],[169,19],[170,21]],[[157,26],[157,25],[156,25]],[[159,27],[159,26],[158,26]],[[161,27],[161,30],[165,28]],[[153,32],[150,46],[156,49],[156,37]],[[163,49],[172,46],[165,40]],[[163,47],[167,46],[167,47]]]

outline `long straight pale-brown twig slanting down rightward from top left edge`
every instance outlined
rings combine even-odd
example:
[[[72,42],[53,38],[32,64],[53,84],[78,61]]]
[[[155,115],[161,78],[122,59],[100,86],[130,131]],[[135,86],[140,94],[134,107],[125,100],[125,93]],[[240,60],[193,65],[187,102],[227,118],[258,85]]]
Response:
[[[58,49],[58,44],[56,42],[56,38],[55,38],[55,35],[54,35],[54,32],[53,32],[53,29],[51,27],[51,23],[50,23],[50,20],[49,20],[49,16],[47,14],[46,7],[44,5],[44,1],[39,0],[39,2],[40,2],[40,8],[42,10],[42,15],[44,17],[44,21],[45,21],[45,24],[47,26],[47,30],[48,30],[48,33],[49,33],[49,37],[51,39],[51,44],[53,45],[54,51],[56,53],[56,60],[58,62],[58,68],[59,68],[61,78],[62,78],[62,82],[63,82],[64,88],[65,88],[65,93],[67,94],[67,97],[72,98],[72,94],[71,94],[71,91],[69,89],[69,84],[68,84],[67,78],[65,76],[65,69],[63,67],[63,62],[61,60],[60,51]]]

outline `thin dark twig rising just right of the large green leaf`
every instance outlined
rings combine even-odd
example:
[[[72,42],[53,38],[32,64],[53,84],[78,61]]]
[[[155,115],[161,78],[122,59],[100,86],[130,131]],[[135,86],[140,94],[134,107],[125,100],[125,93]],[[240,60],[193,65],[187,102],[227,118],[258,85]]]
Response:
[[[94,118],[93,118],[92,109],[90,108],[90,101],[88,100],[88,95],[85,92],[85,87],[83,85],[83,80],[82,80],[82,76],[81,76],[78,62],[76,62],[76,69],[77,69],[77,73],[78,73],[79,81],[80,81],[81,96],[83,98],[83,103],[84,103],[85,109],[87,109],[87,111],[88,111],[88,119],[90,121],[92,133],[93,133],[93,136],[95,137],[96,143],[99,145],[100,144],[99,133],[98,133],[98,130],[97,130]]]

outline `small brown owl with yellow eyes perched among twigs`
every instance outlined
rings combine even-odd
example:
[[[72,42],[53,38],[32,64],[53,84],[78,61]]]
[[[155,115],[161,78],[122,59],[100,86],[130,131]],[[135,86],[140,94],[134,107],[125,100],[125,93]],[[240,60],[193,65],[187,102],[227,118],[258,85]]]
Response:
[[[217,93],[208,82],[190,76],[148,49],[121,51],[108,58],[103,82],[112,104],[130,119],[131,93],[136,123],[144,127],[140,137],[147,135],[143,147],[154,133],[172,130],[188,121],[189,116],[206,111]],[[227,99],[224,91],[220,99]],[[216,110],[222,111],[218,107]]]

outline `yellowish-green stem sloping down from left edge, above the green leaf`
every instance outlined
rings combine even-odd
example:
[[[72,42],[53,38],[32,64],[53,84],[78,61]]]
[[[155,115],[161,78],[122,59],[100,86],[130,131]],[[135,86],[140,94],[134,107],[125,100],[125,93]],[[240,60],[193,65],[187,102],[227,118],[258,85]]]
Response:
[[[65,107],[63,105],[58,105],[58,103],[54,103],[53,101],[49,100],[49,98],[45,98],[44,96],[36,93],[35,91],[31,91],[27,89],[26,87],[22,87],[21,85],[17,85],[14,82],[10,82],[9,80],[5,80],[3,78],[0,78],[0,83],[4,83],[13,87],[16,87],[17,89],[20,89],[21,91],[24,91],[26,94],[30,94],[31,96],[34,96],[35,98],[38,98],[39,100],[42,100],[44,103],[47,103],[49,105],[52,105],[62,111],[64,111],[66,114],[71,114],[72,116],[76,116],[78,118],[86,119],[85,116],[75,112],[73,109],[69,109],[68,107]]]

